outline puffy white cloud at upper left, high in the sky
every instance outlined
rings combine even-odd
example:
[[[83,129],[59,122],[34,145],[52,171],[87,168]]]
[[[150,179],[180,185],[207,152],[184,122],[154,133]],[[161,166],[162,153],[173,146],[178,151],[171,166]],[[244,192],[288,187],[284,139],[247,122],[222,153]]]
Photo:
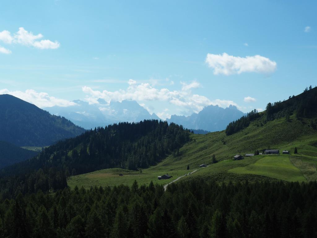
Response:
[[[33,46],[38,49],[57,49],[60,47],[60,43],[50,40],[40,40],[43,38],[43,35],[37,34],[34,35],[32,32],[28,32],[23,27],[20,27],[19,30],[11,36],[11,33],[7,30],[0,32],[0,41],[3,41],[6,44],[21,44],[25,46]]]

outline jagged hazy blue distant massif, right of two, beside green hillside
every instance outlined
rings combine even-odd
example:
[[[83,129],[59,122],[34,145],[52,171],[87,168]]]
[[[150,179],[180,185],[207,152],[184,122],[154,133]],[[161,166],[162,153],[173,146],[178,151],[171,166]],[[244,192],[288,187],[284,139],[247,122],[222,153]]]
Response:
[[[230,105],[224,109],[218,105],[210,105],[204,107],[199,113],[191,114],[191,116],[172,115],[171,119],[167,118],[166,121],[183,125],[184,128],[201,129],[213,132],[226,129],[229,122],[235,121],[245,115],[246,114],[238,110],[236,106]]]

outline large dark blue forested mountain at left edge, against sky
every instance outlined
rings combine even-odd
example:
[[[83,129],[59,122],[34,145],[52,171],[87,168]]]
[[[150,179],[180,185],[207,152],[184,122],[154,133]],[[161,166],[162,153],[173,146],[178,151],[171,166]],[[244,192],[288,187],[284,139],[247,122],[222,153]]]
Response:
[[[0,95],[0,140],[17,146],[47,146],[85,130],[17,97]]]

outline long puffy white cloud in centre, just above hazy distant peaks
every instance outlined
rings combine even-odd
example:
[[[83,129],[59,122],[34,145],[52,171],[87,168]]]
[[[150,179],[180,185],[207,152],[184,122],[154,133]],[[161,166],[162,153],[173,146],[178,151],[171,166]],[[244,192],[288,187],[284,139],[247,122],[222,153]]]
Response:
[[[175,106],[183,107],[189,113],[199,112],[205,106],[219,105],[220,107],[228,107],[230,104],[240,108],[235,102],[230,100],[214,100],[210,101],[207,97],[193,94],[191,89],[197,88],[200,84],[197,81],[193,81],[189,84],[182,82],[181,90],[170,91],[166,88],[157,89],[151,86],[149,83],[138,84],[135,80],[130,79],[127,89],[119,89],[117,91],[99,91],[93,90],[90,87],[84,86],[82,90],[87,96],[85,100],[90,104],[98,103],[99,98],[103,98],[108,103],[111,100],[122,102],[123,100],[135,100],[143,106],[144,101],[161,101],[169,102]],[[163,112],[160,114],[166,116]],[[164,118],[165,119],[165,118]]]

